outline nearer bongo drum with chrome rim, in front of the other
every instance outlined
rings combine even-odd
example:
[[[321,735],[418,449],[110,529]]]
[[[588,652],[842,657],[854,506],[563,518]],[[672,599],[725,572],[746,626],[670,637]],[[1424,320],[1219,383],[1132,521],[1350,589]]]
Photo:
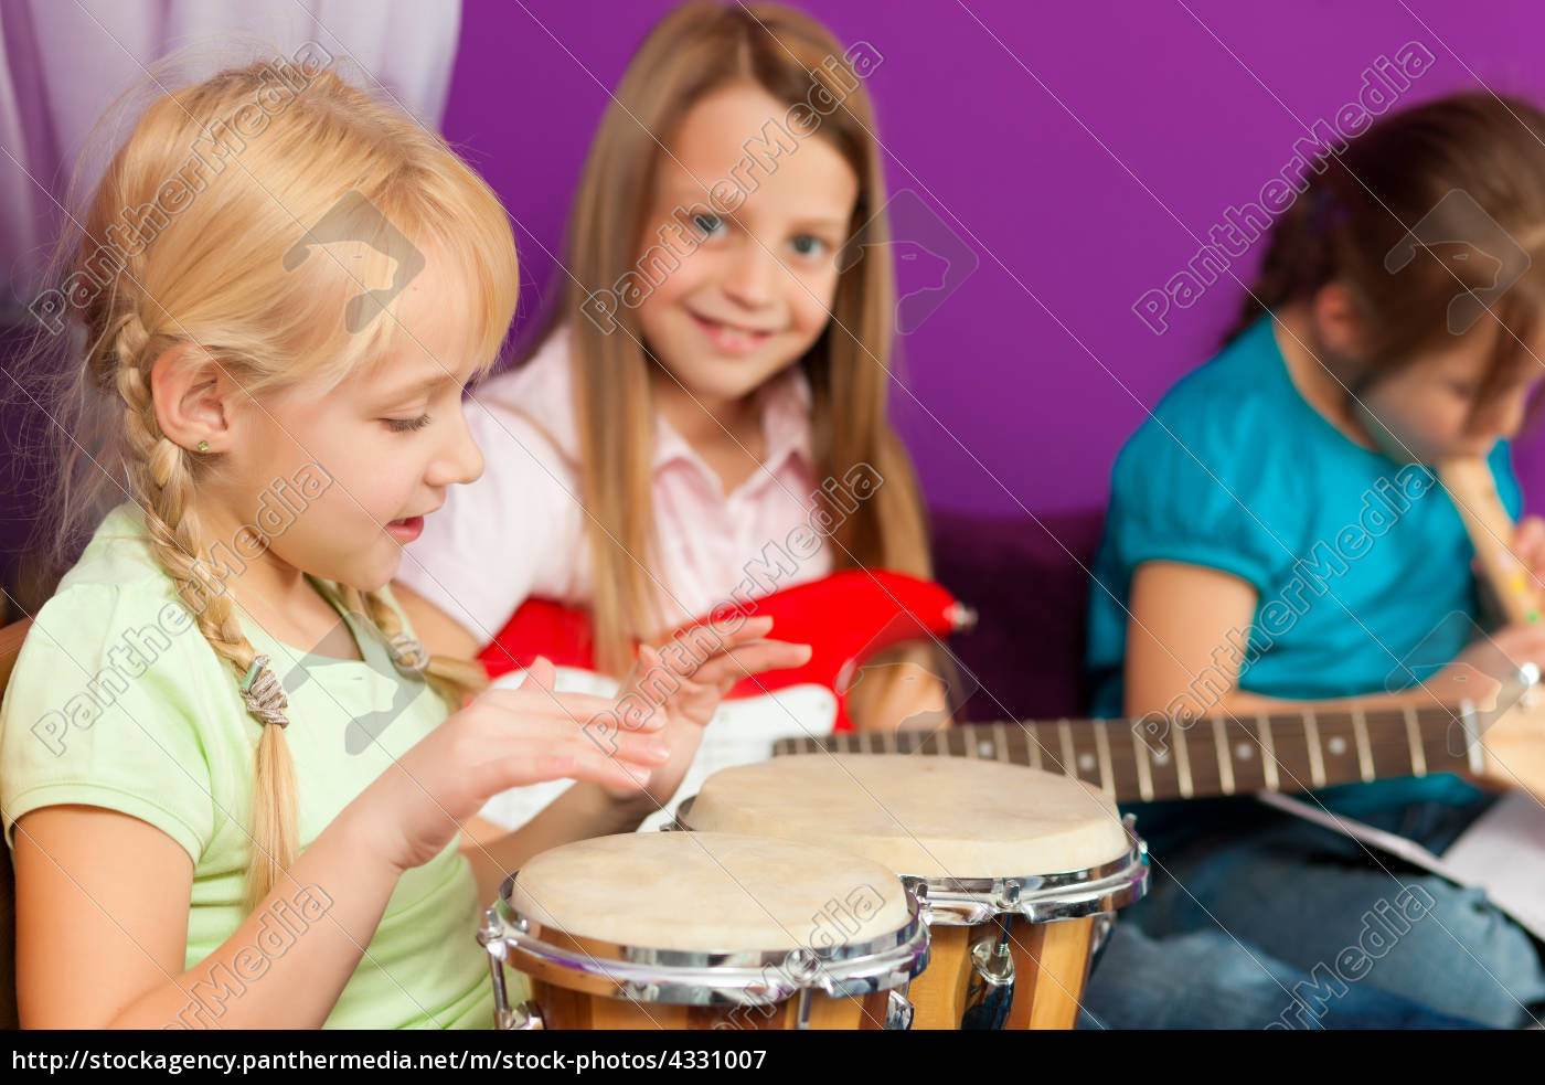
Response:
[[[626,833],[542,852],[484,913],[499,1028],[905,1028],[915,893],[796,841]],[[504,968],[531,1002],[511,1008]]]

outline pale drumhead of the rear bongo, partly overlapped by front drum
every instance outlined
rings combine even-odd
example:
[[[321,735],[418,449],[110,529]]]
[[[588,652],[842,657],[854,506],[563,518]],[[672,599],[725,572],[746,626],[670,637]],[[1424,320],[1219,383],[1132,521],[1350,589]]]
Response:
[[[1089,870],[1131,849],[1115,804],[1035,768],[913,754],[799,754],[714,773],[694,830],[797,839],[918,878]]]

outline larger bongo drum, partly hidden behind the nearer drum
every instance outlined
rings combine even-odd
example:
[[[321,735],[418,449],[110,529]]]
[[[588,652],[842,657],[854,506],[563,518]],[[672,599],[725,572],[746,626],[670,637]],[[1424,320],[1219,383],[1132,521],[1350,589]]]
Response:
[[[907,754],[726,768],[684,828],[842,849],[902,875],[932,927],[915,1028],[1072,1028],[1114,910],[1148,889],[1132,819],[1068,776]]]

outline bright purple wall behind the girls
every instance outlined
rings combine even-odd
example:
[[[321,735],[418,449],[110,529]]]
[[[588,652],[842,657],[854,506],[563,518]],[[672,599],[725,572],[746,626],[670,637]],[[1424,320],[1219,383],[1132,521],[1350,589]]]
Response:
[[[607,88],[671,6],[465,3],[445,131],[518,223],[527,315]],[[882,54],[868,87],[890,192],[916,192],[980,258],[902,338],[893,396],[930,502],[953,512],[1105,502],[1122,440],[1211,354],[1244,287],[1219,278],[1171,309],[1162,335],[1134,301],[1182,270],[1230,207],[1259,199],[1293,142],[1335,122],[1380,57],[1409,42],[1434,57],[1397,105],[1477,79],[1545,102],[1545,11],[1528,0],[800,6]],[[1255,244],[1239,257],[1242,283],[1259,255]],[[905,269],[901,283],[919,286]],[[1537,507],[1545,440],[1523,444]]]

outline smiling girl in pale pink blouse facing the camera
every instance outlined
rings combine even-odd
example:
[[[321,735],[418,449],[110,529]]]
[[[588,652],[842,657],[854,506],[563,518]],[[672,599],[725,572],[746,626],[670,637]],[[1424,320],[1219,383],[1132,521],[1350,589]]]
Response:
[[[620,674],[635,641],[729,600],[851,567],[929,577],[885,416],[879,60],[780,5],[684,3],[650,31],[590,145],[561,297],[476,391],[487,471],[403,564],[428,643],[473,655],[553,598],[589,611],[596,669]],[[508,499],[530,491],[536,515]],[[803,524],[819,546],[791,560]],[[867,680],[853,714],[896,726],[941,692]]]

